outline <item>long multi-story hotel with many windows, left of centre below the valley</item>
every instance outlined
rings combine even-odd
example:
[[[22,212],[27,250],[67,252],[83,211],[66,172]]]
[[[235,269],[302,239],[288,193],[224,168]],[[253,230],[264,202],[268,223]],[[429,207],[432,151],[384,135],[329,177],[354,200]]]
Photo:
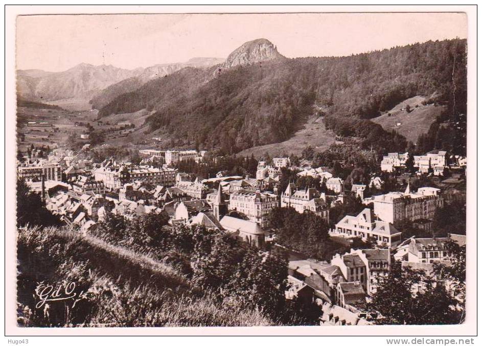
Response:
[[[177,169],[141,166],[128,168],[125,165],[100,167],[95,170],[95,179],[102,180],[109,190],[118,190],[124,184],[135,181],[152,185],[173,186],[176,183]]]

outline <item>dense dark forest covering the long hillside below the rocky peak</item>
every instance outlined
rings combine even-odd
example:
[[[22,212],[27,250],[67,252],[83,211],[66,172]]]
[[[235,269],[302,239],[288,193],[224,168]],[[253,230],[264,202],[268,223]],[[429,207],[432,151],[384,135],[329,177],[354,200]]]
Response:
[[[114,98],[99,115],[155,110],[147,120],[150,130],[175,133],[174,144],[202,143],[236,153],[289,138],[313,114],[331,123],[370,119],[415,95],[447,106],[438,123],[466,114],[466,40],[213,71],[187,68],[153,80]],[[382,129],[371,133],[378,136]],[[391,134],[382,134],[380,141],[387,136]]]

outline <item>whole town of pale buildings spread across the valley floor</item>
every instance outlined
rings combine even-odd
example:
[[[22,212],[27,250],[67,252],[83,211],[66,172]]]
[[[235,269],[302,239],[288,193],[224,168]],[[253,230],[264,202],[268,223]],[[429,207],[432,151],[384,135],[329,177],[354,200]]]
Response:
[[[202,177],[195,174],[198,168],[223,157],[140,149],[137,162],[95,162],[89,150],[32,147],[17,166],[19,183],[80,234],[98,234],[112,215],[126,221],[163,215],[163,228],[227,234],[260,254],[284,251],[285,298],[315,307],[319,325],[375,324],[384,313],[366,304],[377,300],[380,282],[397,266],[422,270],[461,299],[455,284],[433,269],[451,266],[450,244],[466,244],[465,229],[440,228],[440,213],[465,198],[457,188],[465,179],[465,157],[386,153],[368,178],[349,181],[333,168],[288,156],[246,157],[241,161],[250,171]],[[290,224],[297,215],[313,218],[315,233],[326,233],[313,238],[319,244],[303,239],[303,221]]]

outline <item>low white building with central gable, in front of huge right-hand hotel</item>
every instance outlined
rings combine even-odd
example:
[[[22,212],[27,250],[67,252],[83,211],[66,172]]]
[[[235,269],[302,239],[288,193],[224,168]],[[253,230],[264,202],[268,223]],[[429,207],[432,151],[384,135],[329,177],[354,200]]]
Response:
[[[389,247],[398,243],[402,235],[387,221],[375,220],[369,208],[363,209],[357,216],[346,215],[330,232],[341,237],[360,237],[363,240],[372,238]]]

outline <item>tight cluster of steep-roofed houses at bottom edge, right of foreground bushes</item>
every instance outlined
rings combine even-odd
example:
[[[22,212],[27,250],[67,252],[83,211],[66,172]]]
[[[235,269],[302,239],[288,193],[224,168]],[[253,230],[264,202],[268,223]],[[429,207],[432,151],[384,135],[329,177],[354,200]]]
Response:
[[[297,285],[287,294],[322,307],[322,325],[368,324],[366,315],[360,316],[364,303],[376,293],[380,279],[390,269],[391,254],[387,249],[351,249],[334,255],[330,262],[292,260],[288,264],[288,281]],[[351,316],[350,320],[343,322],[344,318],[328,316],[333,310],[339,316]]]

